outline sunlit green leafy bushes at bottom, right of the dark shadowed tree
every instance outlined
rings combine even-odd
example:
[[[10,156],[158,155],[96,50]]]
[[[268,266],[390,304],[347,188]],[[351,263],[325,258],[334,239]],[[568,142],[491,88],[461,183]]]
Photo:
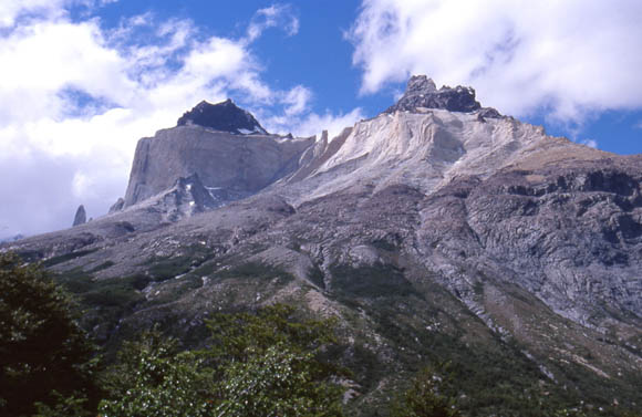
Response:
[[[318,359],[333,322],[292,320],[273,305],[218,314],[208,348],[178,353],[158,332],[125,343],[108,373],[102,417],[341,416],[341,371]]]

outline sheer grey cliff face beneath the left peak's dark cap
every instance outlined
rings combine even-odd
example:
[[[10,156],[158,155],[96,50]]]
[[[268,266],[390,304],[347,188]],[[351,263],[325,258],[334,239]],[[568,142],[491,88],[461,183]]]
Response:
[[[184,125],[138,142],[123,207],[198,174],[204,187],[229,200],[248,197],[299,168],[314,138],[238,135]]]

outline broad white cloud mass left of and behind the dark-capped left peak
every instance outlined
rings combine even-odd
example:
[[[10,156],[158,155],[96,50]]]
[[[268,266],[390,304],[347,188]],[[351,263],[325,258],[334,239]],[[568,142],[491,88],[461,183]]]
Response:
[[[204,98],[234,96],[292,122],[296,133],[318,118],[335,121],[310,113],[309,88],[275,90],[261,80],[252,41],[275,27],[296,34],[288,7],[259,10],[247,35],[234,39],[153,13],[104,29],[91,8],[108,1],[0,2],[3,236],[69,227],[80,204],[89,216],[104,215],[124,194],[137,139]],[[71,20],[66,8],[79,4],[90,12]]]

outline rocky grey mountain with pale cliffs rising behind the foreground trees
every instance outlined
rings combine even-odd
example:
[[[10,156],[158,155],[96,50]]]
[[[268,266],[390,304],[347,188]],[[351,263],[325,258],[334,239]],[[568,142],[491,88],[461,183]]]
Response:
[[[639,407],[642,156],[425,76],[334,138],[235,123],[141,139],[110,215],[2,249],[59,272],[107,346],[153,323],[198,345],[214,312],[276,301],[336,316],[354,415],[435,363],[479,416]]]

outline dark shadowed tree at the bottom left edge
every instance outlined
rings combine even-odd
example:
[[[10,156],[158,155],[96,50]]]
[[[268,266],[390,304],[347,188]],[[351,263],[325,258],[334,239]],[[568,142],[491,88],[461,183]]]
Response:
[[[95,409],[94,350],[75,319],[43,269],[0,253],[0,415]]]

